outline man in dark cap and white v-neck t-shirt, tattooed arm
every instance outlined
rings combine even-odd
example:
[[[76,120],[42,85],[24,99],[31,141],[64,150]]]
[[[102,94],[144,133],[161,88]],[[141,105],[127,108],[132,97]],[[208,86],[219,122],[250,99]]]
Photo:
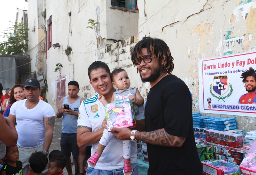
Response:
[[[24,91],[27,99],[17,101],[11,106],[9,118],[13,125],[17,123],[17,146],[23,164],[23,174],[27,174],[28,158],[34,151],[42,151],[48,155],[53,139],[55,113],[50,104],[38,98],[42,89],[37,79],[26,80]],[[46,166],[42,174],[47,174],[47,169]]]

